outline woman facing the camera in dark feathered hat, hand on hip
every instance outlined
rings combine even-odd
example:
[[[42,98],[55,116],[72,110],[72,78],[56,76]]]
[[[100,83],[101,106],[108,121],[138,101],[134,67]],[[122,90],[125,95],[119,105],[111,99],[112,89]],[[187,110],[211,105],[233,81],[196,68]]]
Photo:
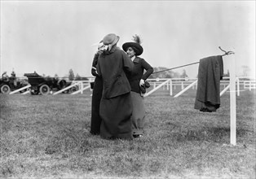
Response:
[[[132,133],[134,138],[140,138],[143,135],[143,128],[145,124],[145,105],[143,101],[143,94],[145,93],[145,81],[153,72],[152,66],[147,63],[145,59],[139,58],[143,53],[143,47],[140,46],[140,38],[138,35],[134,36],[135,42],[126,42],[123,44],[122,49],[135,64],[129,82],[131,86],[131,98],[133,104],[132,114]],[[146,72],[144,72],[144,70]]]

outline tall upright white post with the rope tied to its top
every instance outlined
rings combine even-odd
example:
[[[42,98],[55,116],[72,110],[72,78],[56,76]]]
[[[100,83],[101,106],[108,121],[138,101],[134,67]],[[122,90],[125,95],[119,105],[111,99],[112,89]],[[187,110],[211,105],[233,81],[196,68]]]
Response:
[[[232,55],[230,69],[230,142],[236,145],[236,59]]]

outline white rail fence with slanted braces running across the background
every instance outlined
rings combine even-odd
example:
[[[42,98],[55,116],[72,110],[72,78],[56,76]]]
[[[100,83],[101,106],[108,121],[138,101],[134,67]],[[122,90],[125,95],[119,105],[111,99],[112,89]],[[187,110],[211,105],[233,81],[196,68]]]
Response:
[[[90,82],[94,81],[94,77],[88,78],[88,81],[73,81],[72,85],[69,85],[68,87],[64,89],[60,89],[59,91],[56,91],[53,93],[55,94],[61,94],[62,92],[73,88],[74,86],[77,86],[77,91],[74,91],[71,94],[83,94],[83,92],[86,89],[90,89]],[[156,78],[156,79],[148,79],[147,80],[152,88],[144,95],[144,97],[147,97],[148,95],[154,93],[158,89],[164,89],[169,90],[170,96],[173,96],[173,90],[181,89],[178,94],[174,94],[174,98],[179,97],[183,93],[185,93],[188,89],[196,89],[197,88],[197,78]],[[227,90],[229,89],[229,77],[224,77],[222,81],[220,81],[220,85],[223,89],[223,91],[220,93],[220,96],[222,96]],[[12,91],[10,94],[15,94],[23,89],[29,89],[30,85],[25,86],[22,89],[17,89],[15,91]],[[242,89],[241,89],[242,88]],[[245,77],[245,76],[237,76],[236,77],[236,94],[237,96],[240,95],[240,92],[242,90],[252,90],[256,89],[256,80],[254,77]],[[24,92],[23,94],[29,94],[29,91]]]

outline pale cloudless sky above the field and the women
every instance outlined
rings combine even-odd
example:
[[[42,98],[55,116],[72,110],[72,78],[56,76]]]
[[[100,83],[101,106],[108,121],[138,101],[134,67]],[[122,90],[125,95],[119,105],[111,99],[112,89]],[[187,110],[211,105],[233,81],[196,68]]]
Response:
[[[255,1],[0,1],[0,72],[91,76],[96,43],[138,34],[152,67],[175,68],[232,50],[224,72],[255,76]],[[197,76],[198,64],[177,68]]]

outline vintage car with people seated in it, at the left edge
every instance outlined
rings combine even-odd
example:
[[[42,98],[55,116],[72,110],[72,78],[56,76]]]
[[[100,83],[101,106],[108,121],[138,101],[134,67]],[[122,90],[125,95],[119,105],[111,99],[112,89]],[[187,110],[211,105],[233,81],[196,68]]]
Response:
[[[0,78],[0,93],[9,94],[15,89],[20,89],[28,85],[26,81],[20,81],[16,78],[15,72],[11,72],[11,76],[7,76],[7,72],[2,73],[2,78]],[[20,93],[25,92],[27,89],[20,90]]]

